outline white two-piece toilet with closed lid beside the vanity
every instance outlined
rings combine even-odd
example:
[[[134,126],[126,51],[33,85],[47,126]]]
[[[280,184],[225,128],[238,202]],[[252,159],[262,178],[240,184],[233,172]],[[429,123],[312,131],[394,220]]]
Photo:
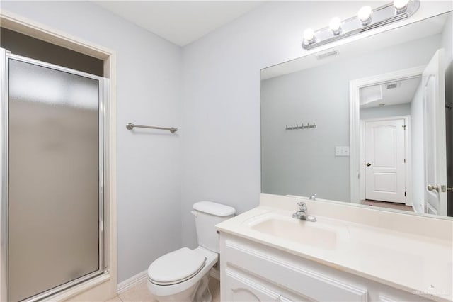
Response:
[[[234,216],[231,206],[200,201],[193,205],[198,247],[183,247],[156,259],[148,269],[147,286],[158,301],[210,302],[210,271],[219,258],[219,235],[214,227]]]

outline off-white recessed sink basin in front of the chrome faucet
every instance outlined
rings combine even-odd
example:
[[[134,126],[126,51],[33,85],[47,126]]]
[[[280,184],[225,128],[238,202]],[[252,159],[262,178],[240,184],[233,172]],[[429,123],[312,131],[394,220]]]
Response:
[[[303,220],[287,220],[271,216],[267,219],[251,223],[251,229],[266,235],[292,240],[302,245],[310,245],[326,250],[336,248],[337,233],[324,227],[321,223]],[[318,225],[317,225],[318,223]]]

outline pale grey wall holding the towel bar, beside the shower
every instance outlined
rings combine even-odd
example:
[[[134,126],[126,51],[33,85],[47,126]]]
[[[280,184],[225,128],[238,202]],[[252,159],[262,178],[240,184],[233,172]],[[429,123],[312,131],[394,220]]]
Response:
[[[119,281],[143,272],[180,247],[180,138],[125,124],[179,128],[180,47],[90,2],[2,1],[1,9],[117,52]]]

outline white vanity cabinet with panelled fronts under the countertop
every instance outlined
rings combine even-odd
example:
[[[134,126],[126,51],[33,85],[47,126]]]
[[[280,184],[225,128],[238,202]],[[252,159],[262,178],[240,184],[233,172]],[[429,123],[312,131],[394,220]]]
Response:
[[[430,301],[275,247],[220,234],[221,301]]]

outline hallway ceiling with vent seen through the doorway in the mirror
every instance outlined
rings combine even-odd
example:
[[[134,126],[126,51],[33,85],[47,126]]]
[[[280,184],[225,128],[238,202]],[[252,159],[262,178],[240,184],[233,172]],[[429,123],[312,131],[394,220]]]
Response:
[[[360,108],[411,103],[420,80],[421,77],[414,77],[361,88]]]

